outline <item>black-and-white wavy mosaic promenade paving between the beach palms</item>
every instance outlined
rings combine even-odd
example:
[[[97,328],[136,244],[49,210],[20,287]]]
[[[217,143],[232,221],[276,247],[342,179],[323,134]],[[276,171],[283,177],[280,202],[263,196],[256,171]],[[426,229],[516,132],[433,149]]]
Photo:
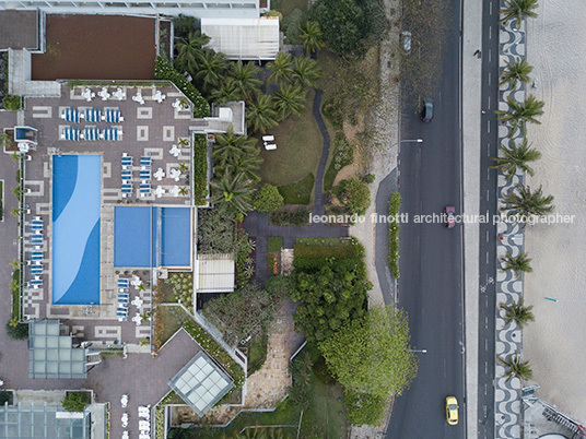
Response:
[[[504,4],[503,4],[504,5]],[[525,58],[525,21],[521,28],[517,29],[514,22],[501,25],[500,32],[500,67],[503,69],[507,61],[514,61],[516,58]],[[526,84],[518,83],[516,90],[513,90],[507,82],[499,91],[499,109],[508,109],[506,98],[512,96],[517,102],[524,102],[527,95]],[[523,141],[520,129],[509,140],[508,134],[511,127],[504,123],[499,126],[499,140],[502,145],[507,145],[511,141],[519,144]],[[500,153],[501,154],[501,153]],[[511,180],[506,180],[503,174],[499,173],[499,207],[503,206],[502,198],[515,188],[517,183],[525,183],[525,176],[520,173],[515,175]],[[507,252],[513,257],[518,256],[524,250],[525,233],[519,224],[499,223],[499,235],[503,238],[497,241],[497,258],[503,258]],[[497,264],[499,266],[499,264]],[[520,280],[515,277],[512,271],[497,271],[496,274],[496,306],[500,304],[511,305],[523,297],[523,275]],[[495,392],[494,392],[494,419],[496,438],[519,438],[521,423],[521,382],[518,378],[507,381],[504,376],[506,367],[499,361],[499,358],[507,359],[511,355],[521,353],[521,330],[517,323],[506,323],[504,320],[505,311],[496,309],[496,368],[495,368]]]

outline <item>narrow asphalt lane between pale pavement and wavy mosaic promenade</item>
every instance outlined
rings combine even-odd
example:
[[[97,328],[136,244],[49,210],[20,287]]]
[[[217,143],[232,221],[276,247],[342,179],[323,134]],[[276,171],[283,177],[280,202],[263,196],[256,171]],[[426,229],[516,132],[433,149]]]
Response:
[[[499,2],[483,2],[482,8],[482,108],[481,161],[480,161],[480,212],[489,216],[497,214],[496,169],[489,169],[490,157],[497,154],[497,117],[494,114],[499,102]],[[496,227],[480,225],[479,254],[479,343],[478,343],[478,437],[494,438],[494,325],[496,319]]]

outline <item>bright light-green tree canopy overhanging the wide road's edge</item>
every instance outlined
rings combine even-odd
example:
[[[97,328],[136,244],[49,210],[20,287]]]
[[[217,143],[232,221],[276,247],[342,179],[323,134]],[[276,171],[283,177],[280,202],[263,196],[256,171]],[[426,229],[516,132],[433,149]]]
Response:
[[[385,399],[402,394],[417,375],[409,340],[407,313],[388,306],[372,308],[318,346],[345,389]]]

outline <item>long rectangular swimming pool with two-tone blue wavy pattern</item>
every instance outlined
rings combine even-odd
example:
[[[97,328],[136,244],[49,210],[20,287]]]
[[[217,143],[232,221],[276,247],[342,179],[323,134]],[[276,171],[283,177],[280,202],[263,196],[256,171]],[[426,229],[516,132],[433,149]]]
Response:
[[[99,304],[102,157],[52,157],[52,302]]]

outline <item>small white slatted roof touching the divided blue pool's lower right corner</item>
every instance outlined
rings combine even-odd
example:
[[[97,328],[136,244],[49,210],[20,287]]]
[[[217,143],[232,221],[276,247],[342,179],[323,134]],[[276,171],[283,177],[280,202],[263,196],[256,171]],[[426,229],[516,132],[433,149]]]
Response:
[[[198,254],[198,293],[234,290],[234,257],[232,254]]]

